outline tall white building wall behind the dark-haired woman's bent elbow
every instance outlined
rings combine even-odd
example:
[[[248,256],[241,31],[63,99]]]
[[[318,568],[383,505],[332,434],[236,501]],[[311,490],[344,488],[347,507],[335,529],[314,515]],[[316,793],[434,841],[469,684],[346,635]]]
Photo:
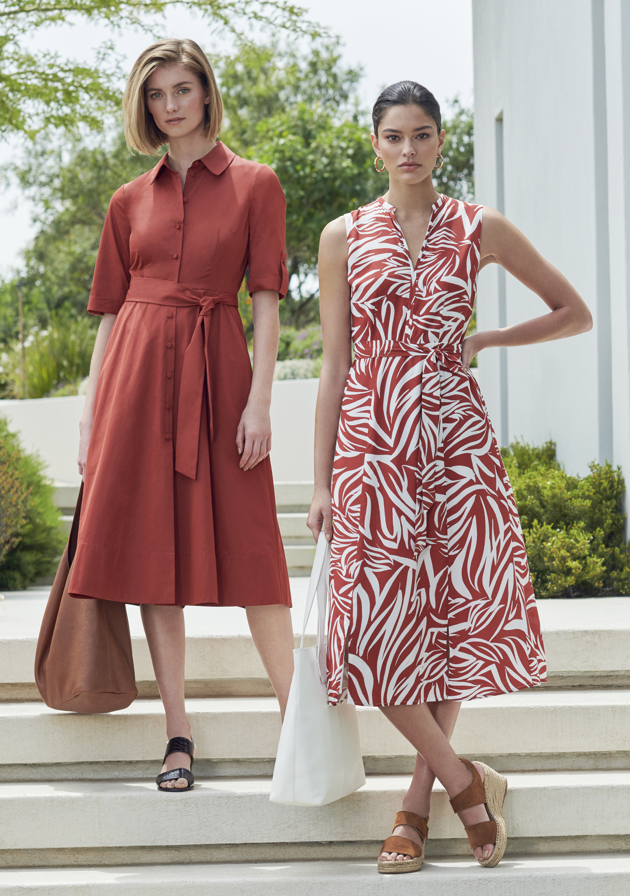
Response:
[[[628,128],[615,6],[620,19],[627,0],[473,0],[477,201],[497,207],[500,198],[496,118],[502,115],[505,215],[574,284],[594,320],[581,336],[504,349],[506,420],[499,349],[481,352],[478,363],[497,435],[535,444],[553,438],[567,470],[583,474],[589,461],[608,459],[630,481],[627,233],[617,230],[628,203],[619,192],[623,141],[608,135]],[[479,329],[499,325],[498,276],[496,265],[479,276]],[[507,325],[545,311],[506,275]]]

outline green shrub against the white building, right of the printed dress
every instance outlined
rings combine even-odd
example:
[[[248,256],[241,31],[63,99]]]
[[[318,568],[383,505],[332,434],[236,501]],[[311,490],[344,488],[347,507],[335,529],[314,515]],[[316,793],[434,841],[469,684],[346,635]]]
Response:
[[[589,476],[570,476],[556,460],[554,442],[539,447],[513,442],[501,454],[536,597],[630,594],[620,468],[593,462]]]

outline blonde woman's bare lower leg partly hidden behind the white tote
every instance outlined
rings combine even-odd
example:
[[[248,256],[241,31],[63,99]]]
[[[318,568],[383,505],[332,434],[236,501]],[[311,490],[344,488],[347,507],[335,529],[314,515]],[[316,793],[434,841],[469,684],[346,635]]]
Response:
[[[293,677],[295,646],[291,611],[281,604],[272,604],[269,607],[246,607],[246,612],[256,650],[278,697],[280,718],[284,720]]]

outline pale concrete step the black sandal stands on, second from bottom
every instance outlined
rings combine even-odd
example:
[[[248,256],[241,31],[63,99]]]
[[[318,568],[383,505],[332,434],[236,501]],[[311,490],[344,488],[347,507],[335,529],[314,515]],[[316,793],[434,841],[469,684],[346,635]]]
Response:
[[[510,855],[600,852],[630,847],[630,772],[508,774],[505,820]],[[295,861],[373,857],[409,787],[405,776],[372,776],[329,806],[269,801],[269,778],[197,779],[187,794],[164,795],[153,780],[0,784],[0,865],[158,861]],[[191,846],[191,844],[194,844]],[[165,847],[176,853],[163,854]],[[427,849],[465,855],[462,824],[442,788],[431,801]],[[160,850],[162,851],[160,853]],[[315,855],[314,855],[315,853]],[[65,860],[64,860],[65,857]],[[76,861],[76,859],[75,859]]]

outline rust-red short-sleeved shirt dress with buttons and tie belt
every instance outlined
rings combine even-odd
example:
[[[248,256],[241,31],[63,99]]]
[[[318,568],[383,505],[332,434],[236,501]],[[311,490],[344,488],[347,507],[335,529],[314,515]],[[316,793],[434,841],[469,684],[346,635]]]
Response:
[[[269,458],[238,466],[252,381],[237,292],[288,288],[271,168],[219,142],[112,196],[88,310],[117,314],[100,369],[70,594],[290,607]]]

